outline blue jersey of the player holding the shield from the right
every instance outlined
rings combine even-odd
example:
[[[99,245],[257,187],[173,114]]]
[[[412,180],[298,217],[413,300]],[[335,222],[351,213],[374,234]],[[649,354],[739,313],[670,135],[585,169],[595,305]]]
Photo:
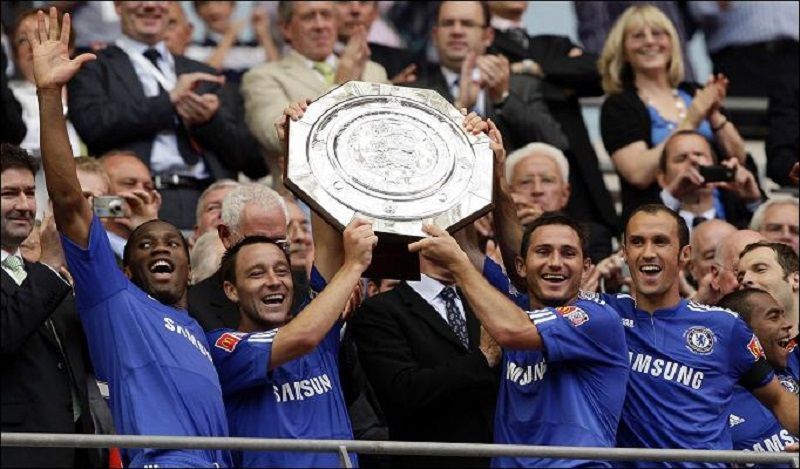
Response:
[[[527,313],[541,351],[503,350],[497,443],[614,446],[628,380],[619,315],[596,296]],[[492,467],[608,466],[602,461],[504,457]]]

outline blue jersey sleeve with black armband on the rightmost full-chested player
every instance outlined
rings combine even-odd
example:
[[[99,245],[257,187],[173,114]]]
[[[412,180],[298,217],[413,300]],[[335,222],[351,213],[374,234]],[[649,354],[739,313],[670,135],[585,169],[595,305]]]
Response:
[[[734,320],[731,329],[730,370],[747,390],[760,388],[775,376],[761,342],[741,318]]]

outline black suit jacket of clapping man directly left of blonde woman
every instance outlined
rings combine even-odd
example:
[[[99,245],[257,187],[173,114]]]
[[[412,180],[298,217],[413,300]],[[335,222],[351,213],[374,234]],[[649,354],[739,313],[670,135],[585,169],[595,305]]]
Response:
[[[619,229],[617,212],[603,181],[578,101],[581,96],[603,95],[597,56],[584,52],[579,57],[569,57],[569,51],[578,46],[562,36],[533,36],[529,37],[528,44],[525,49],[507,32],[496,30],[492,49],[511,62],[531,59],[542,67],[544,99],[570,145],[570,150],[565,152],[572,187],[567,212],[580,220],[605,225],[616,233]]]

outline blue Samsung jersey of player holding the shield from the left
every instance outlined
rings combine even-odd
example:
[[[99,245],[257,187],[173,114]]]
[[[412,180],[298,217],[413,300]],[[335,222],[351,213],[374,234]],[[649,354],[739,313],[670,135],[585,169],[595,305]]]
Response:
[[[324,281],[314,269],[312,290]],[[301,314],[307,314],[301,312]],[[334,325],[311,353],[269,371],[272,341],[279,329],[208,334],[219,371],[232,436],[352,440],[353,430],[339,383],[341,324]],[[357,464],[355,454],[350,454]],[[341,467],[336,453],[243,451],[243,467]]]

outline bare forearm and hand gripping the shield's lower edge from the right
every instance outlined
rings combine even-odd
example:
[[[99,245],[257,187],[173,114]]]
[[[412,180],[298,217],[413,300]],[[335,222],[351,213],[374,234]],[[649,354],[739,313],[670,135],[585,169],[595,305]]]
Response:
[[[528,316],[483,278],[446,231],[425,225],[429,235],[408,245],[453,273],[472,310],[498,344],[512,349],[542,348],[542,337]]]

